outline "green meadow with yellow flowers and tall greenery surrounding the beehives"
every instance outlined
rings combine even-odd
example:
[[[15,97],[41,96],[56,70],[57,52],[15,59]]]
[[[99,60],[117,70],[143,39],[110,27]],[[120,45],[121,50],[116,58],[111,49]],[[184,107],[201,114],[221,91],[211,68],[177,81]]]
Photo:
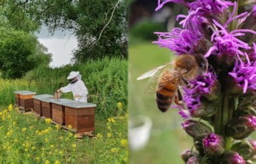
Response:
[[[53,94],[68,83],[72,70],[81,72],[89,102],[97,104],[93,138],[78,139],[50,119],[12,107],[14,91]],[[0,79],[0,163],[127,163],[126,84],[127,64],[119,58],[55,69],[41,66],[22,79]]]

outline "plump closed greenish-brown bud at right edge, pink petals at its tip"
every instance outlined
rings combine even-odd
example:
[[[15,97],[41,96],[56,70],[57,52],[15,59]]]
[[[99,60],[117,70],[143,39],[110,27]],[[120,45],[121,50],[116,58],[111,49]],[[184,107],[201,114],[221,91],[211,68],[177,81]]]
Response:
[[[226,129],[228,136],[232,136],[236,140],[246,138],[256,129],[256,116],[234,117],[228,122]]]

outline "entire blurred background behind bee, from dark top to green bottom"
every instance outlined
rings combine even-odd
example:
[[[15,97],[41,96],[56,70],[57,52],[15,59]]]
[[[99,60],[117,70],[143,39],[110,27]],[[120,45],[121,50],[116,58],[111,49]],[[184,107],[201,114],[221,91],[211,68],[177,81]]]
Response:
[[[129,150],[129,163],[184,163],[180,154],[192,148],[192,138],[181,127],[182,119],[177,109],[162,113],[156,107],[155,95],[146,93],[148,79],[137,77],[157,66],[170,62],[175,56],[168,49],[152,44],[157,40],[154,31],[171,30],[177,23],[175,15],[184,12],[179,6],[167,6],[170,14],[154,12],[156,1],[133,1],[129,19],[129,118],[146,115],[153,121],[148,144],[137,151]],[[140,10],[138,12],[138,10]],[[160,18],[165,17],[163,20]],[[253,134],[256,138],[256,134]]]

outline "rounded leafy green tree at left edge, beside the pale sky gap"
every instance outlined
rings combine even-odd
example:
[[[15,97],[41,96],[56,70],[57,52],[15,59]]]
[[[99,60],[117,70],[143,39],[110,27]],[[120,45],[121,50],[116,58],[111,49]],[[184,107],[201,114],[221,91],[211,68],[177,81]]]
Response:
[[[0,29],[0,70],[3,78],[19,78],[50,56],[43,53],[35,36],[24,31]]]

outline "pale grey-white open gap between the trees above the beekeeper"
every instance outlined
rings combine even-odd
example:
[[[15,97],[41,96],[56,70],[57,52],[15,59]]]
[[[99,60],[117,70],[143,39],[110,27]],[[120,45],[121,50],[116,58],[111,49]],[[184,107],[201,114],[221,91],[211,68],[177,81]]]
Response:
[[[49,65],[51,68],[70,64],[72,51],[77,48],[77,39],[70,31],[56,31],[53,36],[49,36],[47,28],[43,26],[36,35],[39,42],[53,54],[53,61]]]

